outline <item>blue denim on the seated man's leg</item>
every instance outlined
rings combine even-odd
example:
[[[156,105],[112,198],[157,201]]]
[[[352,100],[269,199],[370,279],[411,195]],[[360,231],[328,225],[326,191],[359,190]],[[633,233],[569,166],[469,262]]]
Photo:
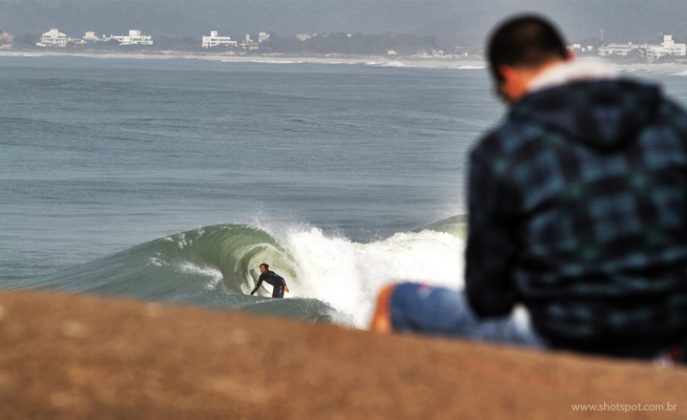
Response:
[[[546,347],[527,316],[511,314],[502,319],[480,321],[472,312],[464,292],[417,283],[401,283],[394,289],[391,323],[394,331],[399,332]]]

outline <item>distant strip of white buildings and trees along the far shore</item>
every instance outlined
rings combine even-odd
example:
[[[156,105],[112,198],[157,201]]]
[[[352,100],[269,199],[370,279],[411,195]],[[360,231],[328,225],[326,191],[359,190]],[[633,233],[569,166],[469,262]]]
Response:
[[[677,42],[672,35],[662,35],[661,42],[606,43],[589,38],[568,46],[577,56],[606,57],[627,63],[687,63],[687,44]],[[481,45],[451,45],[432,36],[409,34],[365,35],[350,33],[312,33],[279,37],[271,32],[243,34],[233,39],[218,30],[208,31],[197,38],[170,38],[131,29],[126,34],[97,34],[88,31],[80,37],[68,36],[59,28],[42,35],[13,36],[0,31],[2,50],[68,50],[84,52],[110,51],[207,51],[227,55],[247,54],[350,54],[350,55],[416,55],[435,58],[483,59]]]

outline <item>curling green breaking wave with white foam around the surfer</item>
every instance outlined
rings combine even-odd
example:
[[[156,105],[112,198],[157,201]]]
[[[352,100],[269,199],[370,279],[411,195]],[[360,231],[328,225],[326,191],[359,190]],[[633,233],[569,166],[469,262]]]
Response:
[[[389,281],[461,286],[464,223],[438,222],[414,232],[359,243],[314,227],[279,233],[216,225],[146,242],[47,276],[21,288],[128,296],[208,308],[364,327],[377,291]],[[270,233],[271,232],[271,233]],[[247,296],[260,263],[283,276],[291,293],[271,299],[270,286]]]

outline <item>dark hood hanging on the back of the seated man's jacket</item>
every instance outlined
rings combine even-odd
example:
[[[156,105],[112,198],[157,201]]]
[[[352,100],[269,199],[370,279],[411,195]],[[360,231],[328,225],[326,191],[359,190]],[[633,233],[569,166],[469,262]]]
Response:
[[[555,127],[589,147],[610,150],[633,141],[656,115],[657,86],[631,80],[584,80],[545,88],[513,105],[511,117]]]

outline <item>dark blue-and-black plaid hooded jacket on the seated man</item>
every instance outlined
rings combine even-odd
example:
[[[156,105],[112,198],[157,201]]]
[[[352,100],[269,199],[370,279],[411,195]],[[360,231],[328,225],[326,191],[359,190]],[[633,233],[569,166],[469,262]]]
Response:
[[[514,104],[470,155],[466,292],[553,347],[687,339],[687,115],[659,88],[578,81]]]

